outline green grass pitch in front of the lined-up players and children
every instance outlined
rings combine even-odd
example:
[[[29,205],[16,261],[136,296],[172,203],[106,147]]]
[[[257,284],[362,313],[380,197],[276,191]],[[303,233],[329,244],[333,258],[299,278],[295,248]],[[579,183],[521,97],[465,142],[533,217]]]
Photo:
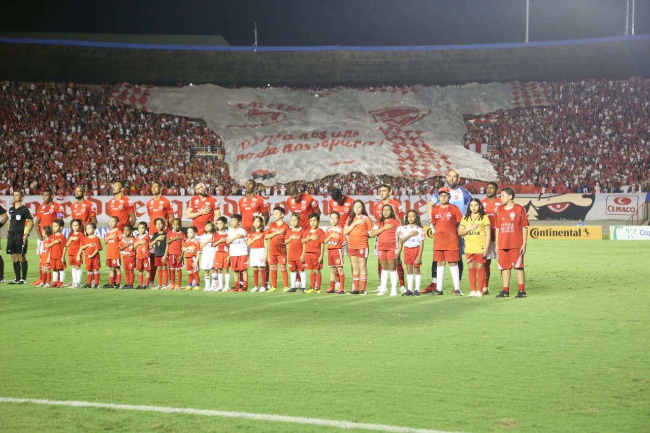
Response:
[[[448,295],[449,272],[445,296],[417,298],[3,284],[0,397],[404,428],[391,431],[647,431],[647,257],[643,241],[529,241],[526,299],[495,298],[495,264],[484,298]],[[369,269],[372,290],[374,256]],[[0,402],[3,432],[244,430],[340,429]]]

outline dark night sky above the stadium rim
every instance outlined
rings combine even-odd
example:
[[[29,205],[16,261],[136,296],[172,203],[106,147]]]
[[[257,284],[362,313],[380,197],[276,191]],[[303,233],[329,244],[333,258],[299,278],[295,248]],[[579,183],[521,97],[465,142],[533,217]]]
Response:
[[[405,46],[523,42],[526,0],[8,2],[2,31],[220,34],[233,46]],[[530,41],[621,36],[625,0],[530,0]],[[635,34],[650,34],[636,1]]]

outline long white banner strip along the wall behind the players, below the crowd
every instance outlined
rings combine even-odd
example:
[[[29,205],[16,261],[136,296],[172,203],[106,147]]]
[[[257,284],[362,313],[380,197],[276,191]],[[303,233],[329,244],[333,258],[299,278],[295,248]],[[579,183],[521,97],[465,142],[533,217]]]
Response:
[[[560,194],[556,196],[517,196],[515,202],[519,203],[526,209],[528,220],[534,221],[551,221],[551,220],[628,220],[642,212],[642,206],[645,203],[645,193],[635,194]],[[482,199],[485,196],[476,194],[476,198]],[[89,196],[88,200],[94,203],[98,211],[97,220],[99,224],[108,224],[109,217],[105,213],[106,203],[112,196]],[[130,196],[135,205],[135,215],[138,221],[145,220],[149,222],[147,215],[146,203],[151,200],[151,196]],[[191,196],[167,196],[172,202],[174,215],[183,220],[183,225],[188,226],[188,220],[185,218],[187,203]],[[221,213],[230,218],[233,214],[239,213],[239,199],[241,196],[215,196],[221,206]],[[322,215],[320,219],[323,222],[329,221],[330,217],[330,196],[315,196],[320,205]],[[353,198],[363,200],[366,203],[367,211],[372,215],[372,206],[379,201],[376,196],[354,196]],[[421,217],[422,222],[428,224],[426,218],[426,205],[429,196],[395,196],[394,198],[402,202],[405,211],[415,209]],[[287,207],[288,196],[268,196],[265,197],[268,205],[273,207]],[[56,196],[54,201],[61,203],[64,208],[66,223],[70,220],[70,207],[74,202],[72,196]],[[12,196],[0,196],[0,205],[5,209],[12,205]],[[34,216],[36,208],[43,203],[42,196],[25,196],[25,205],[31,209]],[[639,214],[640,215],[640,214]],[[289,217],[286,218],[287,221]],[[534,225],[534,224],[533,224]]]

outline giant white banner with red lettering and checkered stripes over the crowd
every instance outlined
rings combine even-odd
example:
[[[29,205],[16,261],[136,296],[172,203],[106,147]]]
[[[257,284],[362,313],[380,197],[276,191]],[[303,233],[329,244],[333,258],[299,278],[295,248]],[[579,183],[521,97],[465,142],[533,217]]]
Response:
[[[326,91],[121,83],[111,98],[205,120],[224,139],[230,176],[242,185],[350,172],[428,179],[451,168],[495,180],[493,166],[463,146],[463,114],[552,105],[546,83]]]

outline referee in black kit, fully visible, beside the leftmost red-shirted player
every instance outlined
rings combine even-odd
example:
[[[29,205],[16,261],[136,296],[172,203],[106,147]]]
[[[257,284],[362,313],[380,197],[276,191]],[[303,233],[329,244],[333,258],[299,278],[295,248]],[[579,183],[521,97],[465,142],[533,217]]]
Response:
[[[23,205],[22,191],[14,191],[14,205],[9,208],[9,228],[6,235],[6,254],[11,254],[16,280],[9,284],[25,284],[27,278],[27,238],[34,227],[31,211]],[[22,271],[22,276],[21,276]]]

